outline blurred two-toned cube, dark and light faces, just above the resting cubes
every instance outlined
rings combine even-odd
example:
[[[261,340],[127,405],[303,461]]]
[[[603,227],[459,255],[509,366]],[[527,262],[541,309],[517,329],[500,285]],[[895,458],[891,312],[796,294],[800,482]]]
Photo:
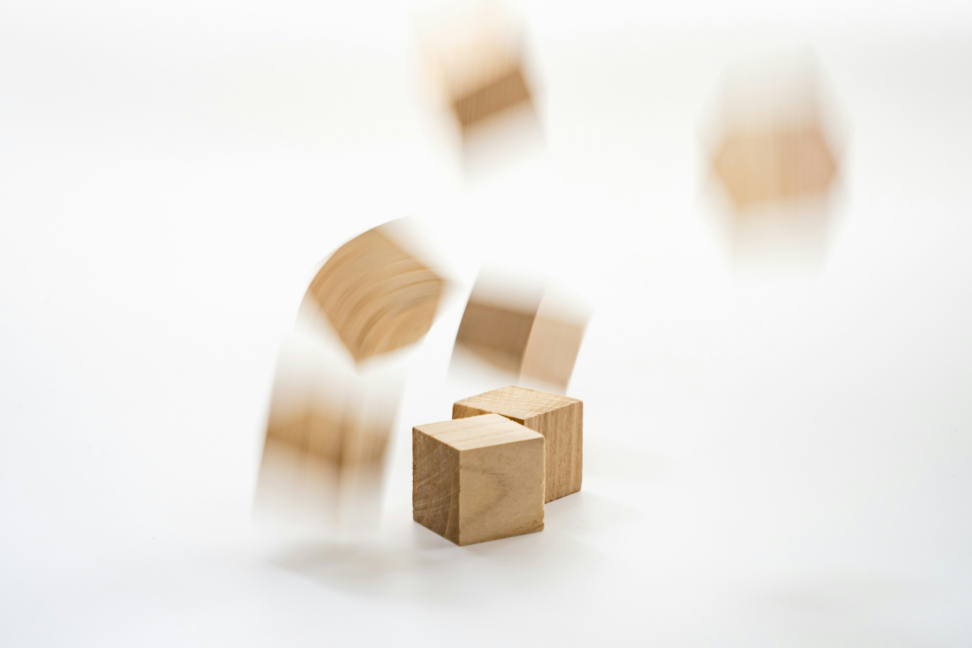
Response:
[[[481,272],[456,333],[456,351],[546,389],[565,390],[588,310],[563,291]]]

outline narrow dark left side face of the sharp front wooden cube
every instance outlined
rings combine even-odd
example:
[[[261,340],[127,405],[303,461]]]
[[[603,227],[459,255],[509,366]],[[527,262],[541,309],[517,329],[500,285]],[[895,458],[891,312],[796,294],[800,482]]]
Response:
[[[459,544],[459,452],[412,428],[412,519]]]

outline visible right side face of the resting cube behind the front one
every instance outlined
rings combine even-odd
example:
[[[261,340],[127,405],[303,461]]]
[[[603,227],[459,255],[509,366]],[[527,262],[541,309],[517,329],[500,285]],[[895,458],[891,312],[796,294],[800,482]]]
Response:
[[[523,422],[546,439],[546,495],[553,501],[580,490],[583,477],[583,403],[541,414]]]

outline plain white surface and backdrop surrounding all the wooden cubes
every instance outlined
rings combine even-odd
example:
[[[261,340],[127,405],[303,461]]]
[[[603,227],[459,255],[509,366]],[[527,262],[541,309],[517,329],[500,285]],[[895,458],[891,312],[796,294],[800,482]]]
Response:
[[[547,151],[464,187],[407,5],[0,6],[0,644],[972,644],[963,4],[525,3]],[[817,276],[735,278],[700,120],[809,44],[851,132]],[[436,139],[439,138],[439,139]],[[460,548],[410,519],[460,292],[411,359],[380,537],[250,505],[320,260],[414,214],[595,307],[584,487]]]

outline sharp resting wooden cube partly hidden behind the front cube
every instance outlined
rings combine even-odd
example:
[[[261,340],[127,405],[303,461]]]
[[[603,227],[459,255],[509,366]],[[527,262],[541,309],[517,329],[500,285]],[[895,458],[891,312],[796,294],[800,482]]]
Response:
[[[544,502],[548,502],[580,490],[583,407],[576,398],[510,386],[453,403],[452,418],[500,414],[542,434],[546,439]]]

